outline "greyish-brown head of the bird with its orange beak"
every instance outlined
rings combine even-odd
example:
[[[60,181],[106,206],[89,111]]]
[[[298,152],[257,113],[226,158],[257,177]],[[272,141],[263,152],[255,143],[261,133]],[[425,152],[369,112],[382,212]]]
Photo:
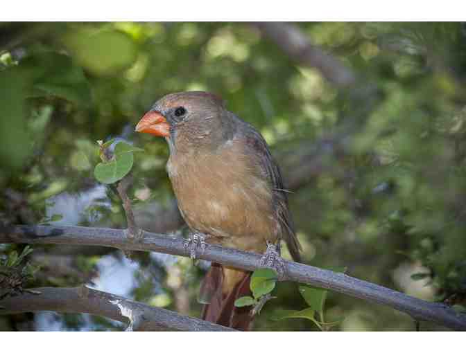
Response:
[[[215,147],[232,133],[223,100],[202,91],[171,93],[144,114],[136,132],[162,136],[171,151]]]

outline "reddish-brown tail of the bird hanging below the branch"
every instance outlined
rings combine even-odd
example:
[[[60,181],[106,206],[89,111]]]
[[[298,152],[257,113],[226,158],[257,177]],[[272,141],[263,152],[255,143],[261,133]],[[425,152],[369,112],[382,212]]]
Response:
[[[235,307],[234,301],[251,296],[251,274],[212,263],[200,289],[200,302],[205,303],[202,319],[248,331],[252,323],[250,307]]]

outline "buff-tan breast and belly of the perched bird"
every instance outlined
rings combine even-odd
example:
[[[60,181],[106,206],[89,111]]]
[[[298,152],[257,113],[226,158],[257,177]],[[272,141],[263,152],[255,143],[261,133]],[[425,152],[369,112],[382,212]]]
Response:
[[[192,230],[212,235],[207,242],[265,251],[266,241],[277,239],[270,186],[239,172],[238,165],[212,164],[184,165],[182,173],[167,165],[184,220]]]

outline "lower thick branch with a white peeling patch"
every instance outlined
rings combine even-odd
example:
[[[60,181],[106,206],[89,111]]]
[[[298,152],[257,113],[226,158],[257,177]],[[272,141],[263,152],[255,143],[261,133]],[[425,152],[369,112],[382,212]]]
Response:
[[[58,311],[63,313],[87,313],[105,316],[128,323],[135,331],[234,331],[198,318],[182,316],[158,307],[150,307],[97,291],[89,287],[35,288],[40,292],[22,293],[0,300],[0,314],[16,314],[29,311]]]

